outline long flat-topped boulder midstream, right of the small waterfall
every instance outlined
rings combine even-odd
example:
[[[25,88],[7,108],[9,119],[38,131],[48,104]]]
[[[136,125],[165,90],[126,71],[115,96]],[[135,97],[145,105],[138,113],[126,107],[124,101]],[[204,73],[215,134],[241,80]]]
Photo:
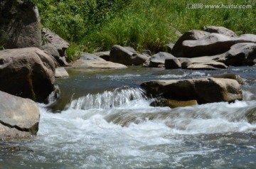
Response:
[[[153,80],[141,84],[152,97],[180,101],[196,99],[198,104],[234,102],[242,99],[242,90],[236,80],[213,77],[193,80]]]

